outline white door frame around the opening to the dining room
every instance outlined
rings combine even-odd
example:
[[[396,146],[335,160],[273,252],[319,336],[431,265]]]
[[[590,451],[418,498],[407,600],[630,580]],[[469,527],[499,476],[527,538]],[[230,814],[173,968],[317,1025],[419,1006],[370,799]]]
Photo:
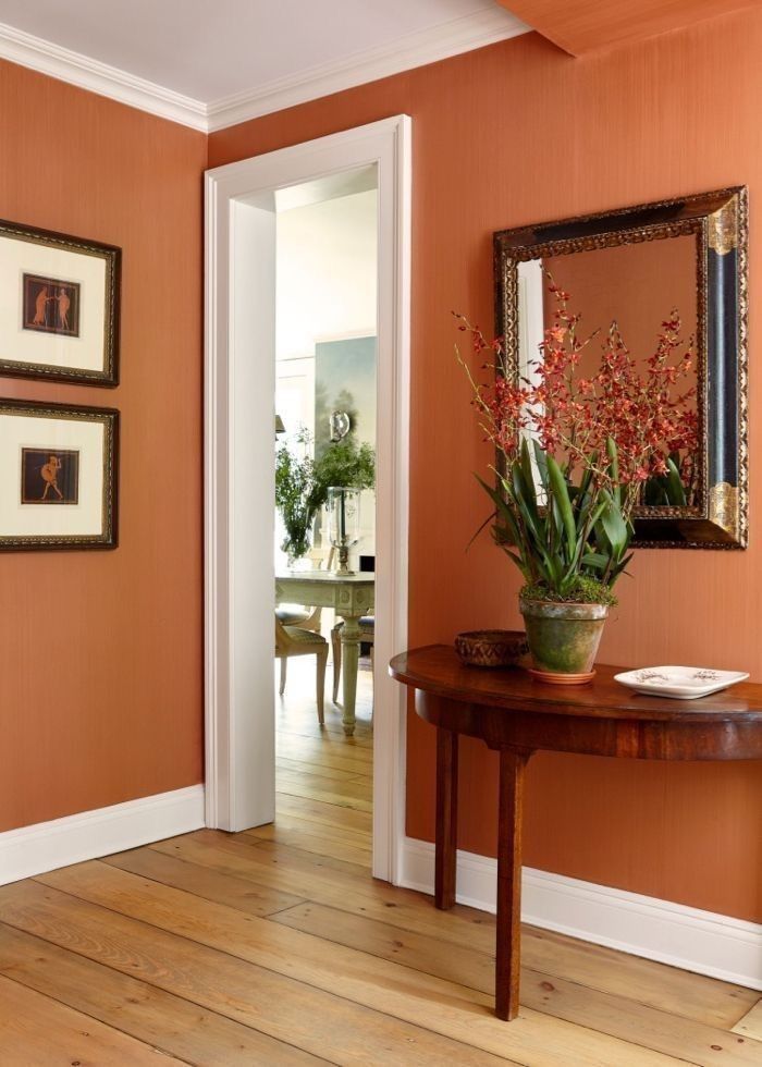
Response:
[[[262,698],[262,679],[273,690],[274,193],[378,168],[373,874],[392,882],[405,812],[406,701],[386,664],[407,639],[410,151],[410,119],[395,115],[206,175],[206,822],[239,831],[274,815]]]

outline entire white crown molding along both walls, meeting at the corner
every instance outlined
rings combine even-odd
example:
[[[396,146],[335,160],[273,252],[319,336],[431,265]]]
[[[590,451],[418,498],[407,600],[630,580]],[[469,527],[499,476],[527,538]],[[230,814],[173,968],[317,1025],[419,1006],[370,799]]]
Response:
[[[528,30],[528,26],[505,9],[495,7],[210,103],[194,100],[5,23],[0,23],[0,59],[193,130],[211,133],[342,89],[484,48]]]

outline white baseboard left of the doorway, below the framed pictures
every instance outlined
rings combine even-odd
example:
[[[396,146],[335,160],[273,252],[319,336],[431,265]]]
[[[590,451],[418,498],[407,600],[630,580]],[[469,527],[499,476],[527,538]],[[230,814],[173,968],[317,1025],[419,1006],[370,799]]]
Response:
[[[0,885],[204,825],[204,786],[192,785],[8,830],[0,833]]]

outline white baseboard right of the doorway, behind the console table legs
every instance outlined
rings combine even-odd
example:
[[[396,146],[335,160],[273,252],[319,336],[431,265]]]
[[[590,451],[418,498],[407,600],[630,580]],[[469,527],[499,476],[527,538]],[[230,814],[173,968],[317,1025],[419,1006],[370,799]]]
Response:
[[[400,884],[433,893],[434,846],[406,837]],[[495,910],[496,860],[458,851],[457,899]],[[524,868],[521,919],[534,927],[762,990],[762,925]]]

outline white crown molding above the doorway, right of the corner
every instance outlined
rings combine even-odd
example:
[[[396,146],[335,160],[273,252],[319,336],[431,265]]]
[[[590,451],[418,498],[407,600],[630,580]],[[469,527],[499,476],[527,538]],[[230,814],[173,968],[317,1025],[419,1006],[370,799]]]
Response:
[[[213,100],[207,108],[208,128],[211,133],[233,126],[528,32],[529,26],[503,8],[478,11],[355,52],[346,59],[278,78],[250,91]]]

